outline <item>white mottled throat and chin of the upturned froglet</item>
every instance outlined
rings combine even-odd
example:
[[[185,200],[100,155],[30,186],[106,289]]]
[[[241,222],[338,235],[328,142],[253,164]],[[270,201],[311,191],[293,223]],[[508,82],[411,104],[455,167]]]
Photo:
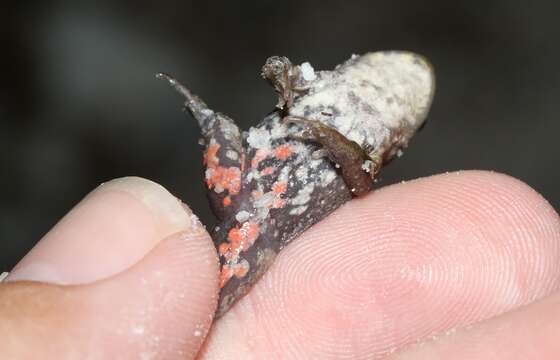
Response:
[[[322,121],[362,148],[391,148],[388,159],[424,122],[435,77],[423,57],[388,51],[354,55],[334,71],[317,73],[307,86],[290,115]]]

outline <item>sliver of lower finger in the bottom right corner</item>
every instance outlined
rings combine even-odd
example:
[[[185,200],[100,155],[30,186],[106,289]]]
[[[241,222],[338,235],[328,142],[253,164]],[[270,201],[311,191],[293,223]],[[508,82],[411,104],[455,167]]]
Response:
[[[560,294],[396,351],[387,359],[557,359]]]

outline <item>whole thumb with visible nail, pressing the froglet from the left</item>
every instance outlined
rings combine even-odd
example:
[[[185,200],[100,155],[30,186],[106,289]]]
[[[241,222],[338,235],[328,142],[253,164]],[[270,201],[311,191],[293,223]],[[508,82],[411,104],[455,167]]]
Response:
[[[217,258],[208,233],[198,221],[193,221],[190,211],[182,207],[182,216],[188,221],[176,221],[178,213],[175,211],[175,221],[166,224],[162,214],[169,213],[167,206],[164,211],[157,209],[154,216],[141,217],[143,223],[138,224],[135,216],[142,213],[147,198],[150,201],[159,199],[156,201],[159,205],[166,201],[171,204],[170,199],[177,200],[159,185],[146,180],[132,178],[118,182],[117,189],[106,186],[86,197],[16,266],[9,281],[0,286],[3,355],[8,358],[150,359],[196,355],[210,327],[218,291]],[[123,188],[132,196],[122,196]],[[101,196],[99,192],[104,194]],[[112,205],[119,202],[115,203],[111,194],[120,199],[121,206],[101,206],[103,211],[100,212],[98,202]],[[127,202],[136,202],[136,210]],[[154,206],[144,208],[155,214]],[[123,209],[134,211],[123,213]],[[111,212],[115,213],[108,216]],[[87,222],[88,214],[90,221],[103,228],[103,238],[92,238],[95,231],[77,236],[73,241],[65,238],[68,234],[78,234],[75,221]],[[150,221],[154,223],[150,225]],[[128,228],[124,223],[128,223]],[[95,228],[89,226],[85,228]],[[142,233],[138,233],[138,229]],[[167,234],[172,230],[175,232]],[[150,238],[162,234],[161,241]],[[120,241],[131,247],[134,238],[140,243],[138,247],[145,249],[149,247],[146,243],[151,242],[152,248],[124,270],[118,269],[117,264],[127,264],[130,256],[109,254],[104,259],[99,256],[103,249],[92,245],[98,243],[112,249],[109,244]],[[80,243],[84,241],[82,246],[89,248],[87,252],[80,251]],[[69,251],[60,243],[74,248]],[[58,247],[56,254],[50,247]],[[72,250],[75,258],[70,261],[71,256],[66,254]],[[45,256],[49,253],[51,259]],[[137,256],[139,251],[130,253]],[[94,270],[91,266],[95,262],[94,255],[98,256],[98,268],[106,268],[104,263],[108,260],[110,270]],[[85,270],[79,267],[81,260]],[[65,265],[64,269],[60,268],[61,264]],[[39,275],[39,268],[48,269],[44,272],[47,275]],[[76,274],[69,274],[68,268]],[[100,274],[108,277],[96,279]],[[41,279],[41,276],[51,279]]]

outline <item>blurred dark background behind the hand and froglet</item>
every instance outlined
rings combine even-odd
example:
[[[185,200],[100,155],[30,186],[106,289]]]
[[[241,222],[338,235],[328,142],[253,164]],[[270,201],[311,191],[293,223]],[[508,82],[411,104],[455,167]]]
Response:
[[[157,181],[212,223],[197,128],[154,74],[247,128],[275,104],[259,77],[275,54],[315,69],[372,50],[426,55],[438,80],[429,122],[380,184],[487,169],[560,208],[555,2],[11,3],[0,12],[0,270],[115,177]]]

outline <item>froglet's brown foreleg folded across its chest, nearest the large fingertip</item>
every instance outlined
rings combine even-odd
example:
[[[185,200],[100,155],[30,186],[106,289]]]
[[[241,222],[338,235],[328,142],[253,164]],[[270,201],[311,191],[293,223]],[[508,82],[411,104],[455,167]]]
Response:
[[[329,159],[340,167],[342,178],[352,195],[361,196],[371,191],[377,165],[360,145],[318,120],[286,116],[284,121],[302,127],[300,134],[292,136],[294,139],[299,137],[314,141],[326,150]]]

